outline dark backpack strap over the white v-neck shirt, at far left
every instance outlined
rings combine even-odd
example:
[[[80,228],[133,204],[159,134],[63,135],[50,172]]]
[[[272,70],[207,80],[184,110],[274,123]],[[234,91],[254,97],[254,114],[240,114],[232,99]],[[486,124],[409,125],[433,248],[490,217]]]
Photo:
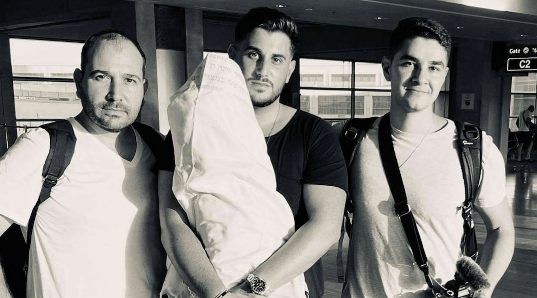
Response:
[[[28,269],[28,257],[30,252],[30,244],[32,243],[32,232],[35,221],[35,215],[39,204],[45,202],[50,197],[50,190],[56,185],[58,179],[63,175],[67,166],[71,162],[73,153],[75,152],[76,137],[72,130],[72,125],[67,120],[60,120],[40,126],[45,129],[50,136],[50,149],[48,151],[45,165],[43,165],[43,184],[39,199],[32,210],[30,219],[28,219],[28,233],[26,237],[26,264],[25,273]]]

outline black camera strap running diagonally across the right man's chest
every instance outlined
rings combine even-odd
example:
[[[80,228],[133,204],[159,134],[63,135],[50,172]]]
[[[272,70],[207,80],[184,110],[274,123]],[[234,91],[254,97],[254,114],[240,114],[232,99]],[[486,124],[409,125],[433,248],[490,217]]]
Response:
[[[429,276],[429,264],[427,264],[427,256],[423,249],[422,239],[419,236],[416,227],[414,215],[408,205],[407,193],[404,190],[403,178],[399,171],[397,157],[395,156],[394,145],[391,139],[391,126],[389,113],[382,117],[379,124],[379,151],[386,174],[386,180],[390,187],[391,195],[395,201],[395,214],[401,220],[403,230],[407,235],[410,249],[419,269],[423,271],[425,281],[430,288],[433,287],[431,277]]]

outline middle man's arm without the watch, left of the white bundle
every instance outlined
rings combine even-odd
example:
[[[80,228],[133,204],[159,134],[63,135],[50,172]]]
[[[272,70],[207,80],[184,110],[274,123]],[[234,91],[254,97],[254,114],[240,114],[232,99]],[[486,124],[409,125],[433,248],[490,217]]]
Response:
[[[188,218],[172,192],[173,172],[158,173],[159,213],[162,244],[173,267],[201,298],[213,298],[226,289],[216,274],[198,237],[188,225]],[[0,296],[1,297],[1,296]],[[226,297],[240,298],[227,294]]]

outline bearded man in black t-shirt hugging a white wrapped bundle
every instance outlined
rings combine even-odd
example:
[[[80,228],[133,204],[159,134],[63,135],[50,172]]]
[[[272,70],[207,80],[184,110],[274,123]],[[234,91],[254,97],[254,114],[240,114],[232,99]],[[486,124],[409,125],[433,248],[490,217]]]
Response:
[[[279,102],[280,93],[295,69],[293,55],[297,41],[298,29],[288,16],[277,10],[256,8],[237,24],[235,43],[228,49],[229,57],[243,72],[274,167],[277,190],[291,207],[296,227],[291,238],[269,259],[253,272],[244,272],[242,284],[232,289],[222,284],[188,226],[185,211],[173,196],[175,162],[164,161],[160,167],[159,207],[164,248],[185,284],[199,297],[219,297],[227,290],[231,292],[228,297],[269,295],[271,290],[305,271],[309,293],[303,297],[318,298],[323,294],[320,258],[339,237],[347,176],[330,125]],[[195,99],[195,88],[185,89],[180,89],[172,100]],[[170,138],[167,141],[172,148]],[[173,157],[173,153],[168,155]]]

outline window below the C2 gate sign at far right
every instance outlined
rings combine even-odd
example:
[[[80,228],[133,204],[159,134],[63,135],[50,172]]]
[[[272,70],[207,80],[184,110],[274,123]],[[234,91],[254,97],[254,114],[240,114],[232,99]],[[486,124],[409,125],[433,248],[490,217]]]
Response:
[[[511,79],[511,109],[509,111],[509,129],[517,131],[517,118],[521,111],[536,105],[537,72],[530,72],[526,77]],[[532,115],[535,118],[535,112]],[[533,121],[535,123],[535,121]]]

